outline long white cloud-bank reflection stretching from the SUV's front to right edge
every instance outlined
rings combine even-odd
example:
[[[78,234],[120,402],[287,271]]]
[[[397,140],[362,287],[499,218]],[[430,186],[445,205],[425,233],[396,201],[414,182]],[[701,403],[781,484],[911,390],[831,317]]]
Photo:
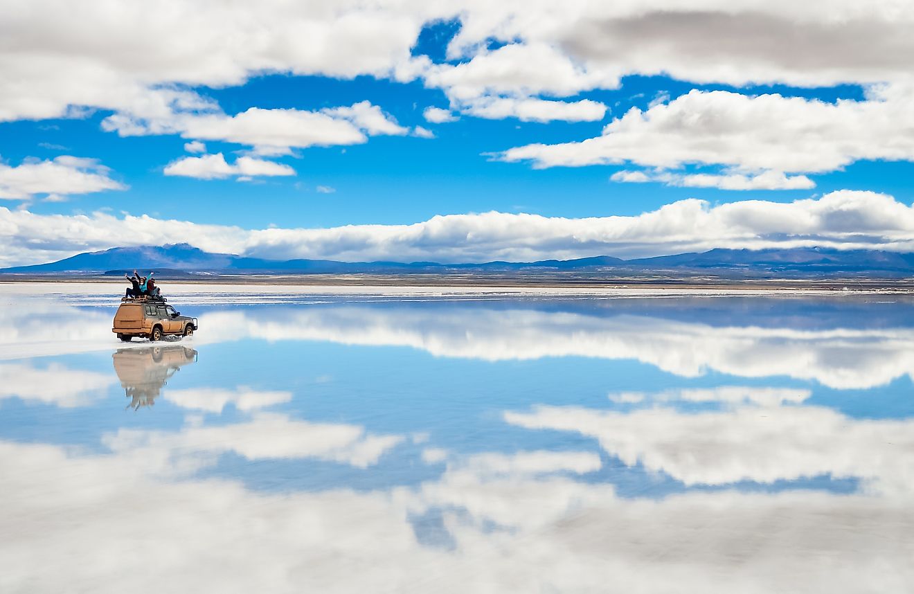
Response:
[[[201,340],[206,342],[246,336],[409,346],[431,355],[484,361],[558,356],[635,359],[681,377],[699,377],[713,370],[739,377],[813,379],[841,389],[876,387],[898,377],[914,377],[914,333],[907,326],[712,325],[629,313],[478,305],[231,311],[209,313],[204,321],[208,330]]]

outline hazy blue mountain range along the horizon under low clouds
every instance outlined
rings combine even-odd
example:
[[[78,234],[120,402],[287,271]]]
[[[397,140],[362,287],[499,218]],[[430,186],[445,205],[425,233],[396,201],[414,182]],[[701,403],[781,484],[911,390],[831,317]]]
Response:
[[[914,274],[914,254],[880,250],[802,249],[711,249],[654,258],[622,260],[611,256],[577,260],[535,262],[490,261],[441,264],[438,262],[341,262],[335,260],[264,260],[234,254],[211,253],[186,243],[136,248],[112,248],[82,253],[71,258],[0,269],[0,273],[122,274],[133,269],[156,270],[160,276],[200,273],[218,274],[409,274],[452,272],[519,271],[717,271],[738,276],[787,276],[853,273],[864,276],[899,277]]]

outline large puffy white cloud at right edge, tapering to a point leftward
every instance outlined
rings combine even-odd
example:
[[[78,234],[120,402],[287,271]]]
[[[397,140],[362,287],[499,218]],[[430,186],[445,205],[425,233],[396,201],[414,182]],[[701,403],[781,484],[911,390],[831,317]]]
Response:
[[[787,178],[783,173],[834,171],[863,159],[914,160],[911,129],[914,108],[907,88],[874,90],[866,101],[835,103],[692,90],[647,111],[633,108],[607,124],[596,138],[528,144],[505,151],[501,158],[529,160],[539,167],[716,164],[743,173],[769,173],[754,178],[673,175],[670,179],[684,186],[735,189],[808,187],[811,182],[805,177]]]

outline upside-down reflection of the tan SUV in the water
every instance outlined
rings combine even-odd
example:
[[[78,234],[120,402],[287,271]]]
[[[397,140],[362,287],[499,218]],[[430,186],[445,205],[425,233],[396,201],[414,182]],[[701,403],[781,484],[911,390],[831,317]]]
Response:
[[[151,407],[167,380],[183,366],[197,363],[197,350],[188,346],[120,348],[112,355],[128,408]]]

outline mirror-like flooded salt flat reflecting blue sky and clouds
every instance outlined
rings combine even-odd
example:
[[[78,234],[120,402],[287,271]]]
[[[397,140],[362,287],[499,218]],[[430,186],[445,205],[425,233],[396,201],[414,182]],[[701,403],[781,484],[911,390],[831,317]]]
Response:
[[[914,591],[914,302],[0,285],[0,591]]]

